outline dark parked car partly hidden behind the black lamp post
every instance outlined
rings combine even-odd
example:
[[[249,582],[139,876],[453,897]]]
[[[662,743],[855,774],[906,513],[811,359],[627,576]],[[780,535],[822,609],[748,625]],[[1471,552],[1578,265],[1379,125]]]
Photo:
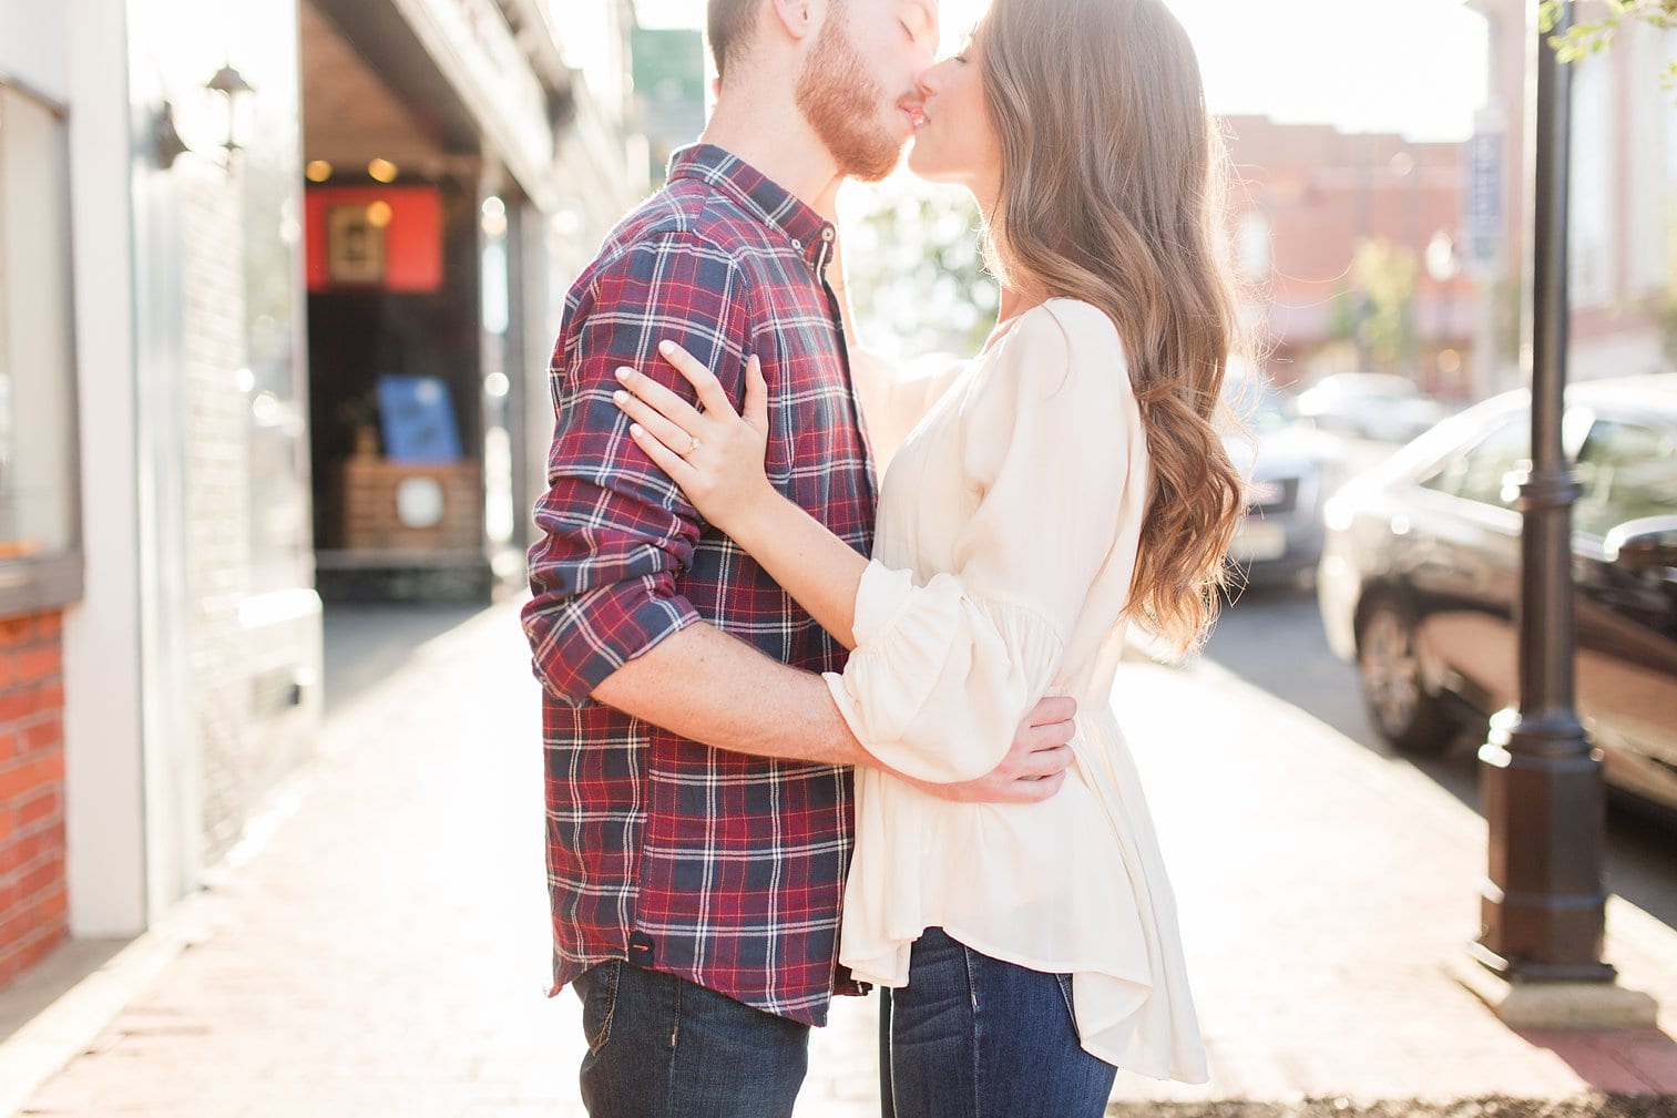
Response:
[[[1410,751],[1518,697],[1518,471],[1529,401],[1486,401],[1327,505],[1316,578],[1335,652],[1378,731]],[[1677,374],[1568,389],[1578,712],[1607,779],[1677,815]]]

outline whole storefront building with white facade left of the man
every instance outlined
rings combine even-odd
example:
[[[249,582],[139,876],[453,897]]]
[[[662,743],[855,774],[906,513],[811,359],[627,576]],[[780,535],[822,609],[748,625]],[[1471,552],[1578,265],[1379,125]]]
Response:
[[[629,0],[0,2],[0,986],[310,754],[322,597],[522,580]]]

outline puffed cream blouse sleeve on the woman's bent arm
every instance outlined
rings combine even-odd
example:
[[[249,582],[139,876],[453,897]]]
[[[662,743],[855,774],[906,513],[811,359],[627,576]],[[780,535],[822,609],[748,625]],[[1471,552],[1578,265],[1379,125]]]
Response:
[[[1001,761],[1112,558],[1142,429],[1117,330],[1097,315],[1028,312],[981,360],[961,404],[979,503],[953,570],[919,585],[875,560],[862,577],[855,652],[825,679],[857,741],[899,773],[954,783]]]

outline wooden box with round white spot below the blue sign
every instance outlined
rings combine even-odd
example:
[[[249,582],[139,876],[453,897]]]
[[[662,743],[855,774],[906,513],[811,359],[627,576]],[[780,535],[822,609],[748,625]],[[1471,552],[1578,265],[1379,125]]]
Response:
[[[404,525],[399,491],[421,510],[441,496],[428,526]],[[431,489],[431,484],[436,488]],[[439,493],[438,493],[439,491]],[[342,546],[349,551],[478,551],[483,548],[483,473],[478,463],[391,463],[350,458],[342,474]],[[419,498],[419,499],[413,499]]]

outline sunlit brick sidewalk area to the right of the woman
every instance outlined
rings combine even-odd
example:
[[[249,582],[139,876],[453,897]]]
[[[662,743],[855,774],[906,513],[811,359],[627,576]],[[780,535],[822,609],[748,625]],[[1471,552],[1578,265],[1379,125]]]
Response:
[[[1664,1033],[1514,1033],[1444,970],[1479,932],[1477,815],[1214,665],[1120,672],[1214,1081],[1127,1100],[1677,1093],[1677,934],[1617,898],[1608,959]]]

